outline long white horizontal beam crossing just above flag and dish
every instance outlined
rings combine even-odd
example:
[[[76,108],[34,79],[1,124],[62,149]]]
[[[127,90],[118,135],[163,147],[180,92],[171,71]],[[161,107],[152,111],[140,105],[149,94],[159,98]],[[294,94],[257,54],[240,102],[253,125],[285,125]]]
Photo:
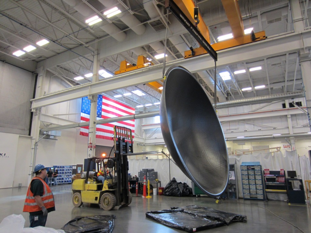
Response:
[[[301,48],[311,47],[311,30],[299,33],[292,33],[262,40],[252,44],[225,49],[218,52],[218,66],[226,66],[233,63],[243,63],[258,61],[264,58],[278,56],[286,53],[299,51]],[[250,52],[251,51],[251,52]],[[238,54],[238,56],[237,56]],[[172,65],[180,65],[188,69],[190,72],[199,72],[202,70],[214,68],[214,60],[209,54],[188,58],[178,59],[166,63],[169,68]],[[64,102],[67,100],[77,99],[88,95],[94,95],[106,91],[112,91],[127,86],[134,86],[141,83],[159,81],[162,79],[162,64],[153,65],[134,72],[127,72],[116,75],[112,78],[99,81],[97,83],[89,83],[74,88],[58,91],[43,97],[32,99],[31,107],[38,108],[46,105]]]

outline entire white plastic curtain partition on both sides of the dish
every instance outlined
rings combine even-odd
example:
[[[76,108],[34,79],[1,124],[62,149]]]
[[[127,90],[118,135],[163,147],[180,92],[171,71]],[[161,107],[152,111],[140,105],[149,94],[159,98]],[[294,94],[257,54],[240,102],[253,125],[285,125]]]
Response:
[[[229,156],[230,158],[236,158],[237,171],[236,179],[239,189],[239,197],[243,197],[242,193],[242,179],[241,179],[241,163],[242,162],[260,162],[262,169],[270,170],[295,170],[297,178],[304,180],[311,180],[310,172],[310,161],[306,156],[298,157],[296,151],[285,151],[285,152],[265,152],[265,153],[254,153],[251,155],[241,156]],[[300,164],[299,164],[300,159]],[[175,177],[177,182],[185,182],[191,187],[191,180],[183,174],[183,172],[173,162],[170,162],[170,178],[169,178],[169,160],[168,159],[143,159],[136,160],[130,159],[129,173],[131,176],[138,176],[138,172],[142,171],[143,168],[153,168],[158,172],[158,179],[161,181],[161,186],[165,187],[170,179]],[[207,177],[208,179],[208,177]],[[304,187],[306,191],[306,187]],[[271,200],[287,200],[287,195],[283,193],[268,193],[268,198]]]

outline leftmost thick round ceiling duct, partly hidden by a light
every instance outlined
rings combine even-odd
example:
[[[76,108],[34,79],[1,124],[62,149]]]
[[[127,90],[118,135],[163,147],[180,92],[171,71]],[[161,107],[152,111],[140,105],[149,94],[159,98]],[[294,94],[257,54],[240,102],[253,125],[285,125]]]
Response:
[[[73,7],[77,12],[83,16],[92,16],[95,14],[94,10],[81,0],[64,0],[69,6]],[[113,23],[102,22],[105,25],[100,26],[102,30],[111,35],[114,39],[122,42],[126,38],[126,33]]]

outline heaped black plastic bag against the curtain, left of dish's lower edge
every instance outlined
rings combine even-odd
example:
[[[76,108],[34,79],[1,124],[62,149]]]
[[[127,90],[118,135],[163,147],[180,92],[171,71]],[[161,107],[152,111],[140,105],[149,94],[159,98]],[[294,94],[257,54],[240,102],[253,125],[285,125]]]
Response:
[[[177,182],[175,177],[169,181],[163,190],[165,196],[182,197],[192,195],[192,188],[186,183]]]

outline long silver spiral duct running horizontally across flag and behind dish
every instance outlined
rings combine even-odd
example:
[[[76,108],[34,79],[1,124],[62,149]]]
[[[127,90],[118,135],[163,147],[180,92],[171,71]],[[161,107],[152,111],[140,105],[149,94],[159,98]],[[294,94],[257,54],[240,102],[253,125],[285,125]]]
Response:
[[[226,101],[226,102],[219,102],[217,103],[217,108],[220,109],[220,108],[228,108],[228,107],[233,107],[233,106],[260,104],[260,103],[267,103],[267,102],[272,102],[272,101],[277,101],[277,100],[285,100],[285,99],[301,98],[301,97],[304,97],[304,92],[290,92],[286,94],[277,94],[277,95],[272,95],[272,96],[262,96],[262,97],[248,98],[248,99],[242,99],[242,100],[231,100],[231,101]],[[142,118],[148,118],[148,117],[155,117],[159,115],[160,115],[160,111],[140,113],[140,114],[133,114],[133,115],[127,115],[127,116],[122,116],[122,117],[114,117],[114,118],[109,118],[109,119],[98,120],[96,121],[96,124],[105,124],[105,123],[118,122],[118,121],[124,121],[124,120],[133,120],[133,119],[142,119]],[[53,130],[60,130],[60,129],[76,128],[76,127],[88,126],[89,124],[90,122],[86,121],[86,122],[80,122],[80,123],[74,123],[74,124],[42,128],[40,129],[40,131],[46,132],[46,131],[53,131]]]

